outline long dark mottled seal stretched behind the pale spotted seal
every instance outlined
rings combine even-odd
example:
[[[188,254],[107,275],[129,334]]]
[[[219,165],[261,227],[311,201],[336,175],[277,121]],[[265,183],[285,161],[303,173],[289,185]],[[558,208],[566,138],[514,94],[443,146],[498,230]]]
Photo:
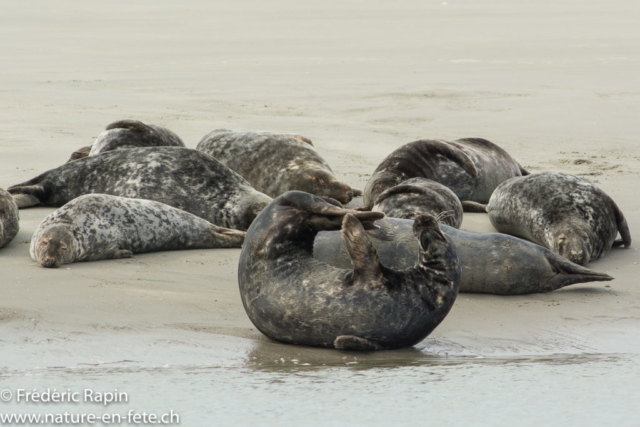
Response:
[[[89,156],[9,188],[18,207],[62,206],[84,194],[155,200],[246,230],[271,198],[213,157],[189,148],[131,148]]]

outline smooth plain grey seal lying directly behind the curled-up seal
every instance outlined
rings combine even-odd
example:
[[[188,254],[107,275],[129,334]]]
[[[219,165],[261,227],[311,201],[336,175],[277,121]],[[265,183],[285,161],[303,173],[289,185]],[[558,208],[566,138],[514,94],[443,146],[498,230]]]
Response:
[[[380,261],[402,270],[418,260],[413,221],[385,218],[380,229],[368,232]],[[468,233],[441,225],[456,245],[462,275],[460,292],[522,295],[550,292],[575,283],[613,280],[613,277],[576,265],[558,254],[505,234]],[[338,268],[349,266],[349,256],[337,232],[318,233],[314,257]]]

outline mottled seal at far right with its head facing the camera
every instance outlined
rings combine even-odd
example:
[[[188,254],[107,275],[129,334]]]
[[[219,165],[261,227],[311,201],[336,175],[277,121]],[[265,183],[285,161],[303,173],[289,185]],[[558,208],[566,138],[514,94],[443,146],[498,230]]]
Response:
[[[616,203],[596,185],[561,172],[539,172],[502,183],[487,205],[502,233],[524,237],[576,264],[631,246],[629,226]]]

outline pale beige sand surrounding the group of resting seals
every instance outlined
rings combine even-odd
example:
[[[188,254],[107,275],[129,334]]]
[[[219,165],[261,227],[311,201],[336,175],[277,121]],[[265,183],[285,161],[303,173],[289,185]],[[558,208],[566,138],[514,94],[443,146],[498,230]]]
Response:
[[[531,171],[601,186],[640,230],[637,2],[46,2],[0,14],[0,187],[64,163],[108,123],[295,132],[363,188],[418,138],[484,137]],[[356,200],[354,203],[361,203]],[[53,209],[0,250],[1,366],[198,364],[268,341],[245,315],[239,250],[57,270],[29,257]],[[464,230],[488,232],[486,215]],[[638,353],[640,255],[550,294],[460,294],[419,348],[460,355]],[[275,344],[273,344],[275,345]]]

